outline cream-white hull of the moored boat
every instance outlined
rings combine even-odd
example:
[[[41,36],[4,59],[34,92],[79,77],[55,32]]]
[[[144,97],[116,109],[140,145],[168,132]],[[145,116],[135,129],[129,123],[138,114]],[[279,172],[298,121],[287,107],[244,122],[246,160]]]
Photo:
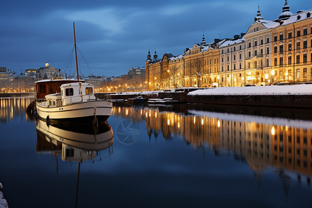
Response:
[[[60,107],[48,107],[36,103],[37,116],[49,122],[98,123],[105,122],[112,114],[112,103],[109,101],[86,101]]]

